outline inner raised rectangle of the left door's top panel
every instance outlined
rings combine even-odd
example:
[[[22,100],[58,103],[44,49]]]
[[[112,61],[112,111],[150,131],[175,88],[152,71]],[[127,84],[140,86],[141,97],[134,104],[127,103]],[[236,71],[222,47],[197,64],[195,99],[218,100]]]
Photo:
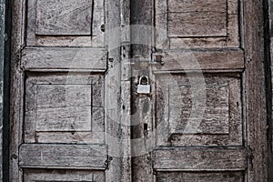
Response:
[[[36,35],[91,35],[92,0],[36,0]]]

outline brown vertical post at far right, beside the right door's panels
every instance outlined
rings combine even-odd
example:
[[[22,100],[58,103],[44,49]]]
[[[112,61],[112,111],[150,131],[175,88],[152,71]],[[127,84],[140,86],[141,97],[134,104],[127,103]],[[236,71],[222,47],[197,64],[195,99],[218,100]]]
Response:
[[[255,15],[255,16],[253,16]],[[271,83],[268,57],[268,1],[244,1],[245,96],[248,129],[248,181],[271,181]]]

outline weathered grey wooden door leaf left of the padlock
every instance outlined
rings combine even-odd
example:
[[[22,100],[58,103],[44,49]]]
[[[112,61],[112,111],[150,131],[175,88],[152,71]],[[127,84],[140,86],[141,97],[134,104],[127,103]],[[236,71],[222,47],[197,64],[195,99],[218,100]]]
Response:
[[[109,48],[121,37],[108,34],[119,4],[14,1],[10,181],[126,177],[120,143],[109,141],[123,128],[119,46]]]

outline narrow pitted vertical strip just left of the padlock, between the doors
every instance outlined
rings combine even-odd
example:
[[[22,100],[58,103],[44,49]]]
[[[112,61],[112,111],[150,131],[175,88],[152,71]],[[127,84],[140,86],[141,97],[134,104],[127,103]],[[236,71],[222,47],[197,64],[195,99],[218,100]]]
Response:
[[[121,19],[121,122],[124,136],[123,181],[132,181],[131,175],[131,66],[130,62],[130,0],[120,0]]]

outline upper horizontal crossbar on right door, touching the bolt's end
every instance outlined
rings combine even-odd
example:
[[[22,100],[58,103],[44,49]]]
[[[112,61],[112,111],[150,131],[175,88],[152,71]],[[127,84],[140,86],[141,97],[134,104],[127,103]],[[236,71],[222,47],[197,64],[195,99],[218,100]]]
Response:
[[[244,53],[241,49],[215,49],[215,50],[176,50],[158,53],[164,65],[157,71],[183,71],[183,70],[227,70],[244,68]]]

